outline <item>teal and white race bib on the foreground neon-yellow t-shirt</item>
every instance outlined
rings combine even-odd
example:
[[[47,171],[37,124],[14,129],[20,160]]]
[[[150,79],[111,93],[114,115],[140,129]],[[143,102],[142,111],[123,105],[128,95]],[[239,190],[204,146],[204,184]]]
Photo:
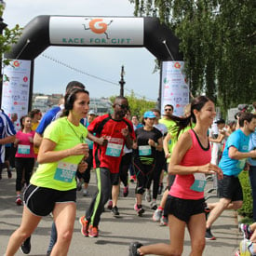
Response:
[[[75,164],[59,162],[55,171],[54,180],[70,183],[73,181],[76,169],[77,165]]]

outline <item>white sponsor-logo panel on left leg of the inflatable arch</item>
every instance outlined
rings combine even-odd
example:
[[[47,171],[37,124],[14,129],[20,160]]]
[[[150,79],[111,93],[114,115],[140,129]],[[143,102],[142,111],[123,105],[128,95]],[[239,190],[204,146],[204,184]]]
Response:
[[[17,113],[20,120],[22,115],[28,114],[30,72],[31,61],[12,60],[3,68],[1,108],[9,117],[12,113]]]

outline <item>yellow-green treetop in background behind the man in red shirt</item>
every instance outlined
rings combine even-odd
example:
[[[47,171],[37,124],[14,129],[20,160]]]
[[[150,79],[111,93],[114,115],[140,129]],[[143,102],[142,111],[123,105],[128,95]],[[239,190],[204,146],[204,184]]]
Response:
[[[116,96],[112,96],[110,101],[114,102]],[[130,109],[131,115],[138,115],[141,117],[144,112],[155,108],[156,102],[155,101],[146,101],[145,98],[137,99],[135,97],[134,91],[132,90],[130,95],[125,95],[128,99],[128,105]]]

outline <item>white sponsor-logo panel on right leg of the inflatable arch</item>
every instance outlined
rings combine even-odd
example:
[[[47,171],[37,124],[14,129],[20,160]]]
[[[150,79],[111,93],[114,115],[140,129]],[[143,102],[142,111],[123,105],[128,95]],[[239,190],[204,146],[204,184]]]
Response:
[[[189,103],[184,61],[163,61],[161,73],[161,113],[164,113],[166,104],[171,104],[173,115],[183,115],[183,108]]]

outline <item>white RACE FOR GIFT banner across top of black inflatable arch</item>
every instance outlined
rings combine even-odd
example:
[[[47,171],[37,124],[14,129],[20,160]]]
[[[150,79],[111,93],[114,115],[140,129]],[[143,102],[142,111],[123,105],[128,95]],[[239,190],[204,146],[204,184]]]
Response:
[[[143,18],[61,17],[49,20],[52,45],[143,46]]]

